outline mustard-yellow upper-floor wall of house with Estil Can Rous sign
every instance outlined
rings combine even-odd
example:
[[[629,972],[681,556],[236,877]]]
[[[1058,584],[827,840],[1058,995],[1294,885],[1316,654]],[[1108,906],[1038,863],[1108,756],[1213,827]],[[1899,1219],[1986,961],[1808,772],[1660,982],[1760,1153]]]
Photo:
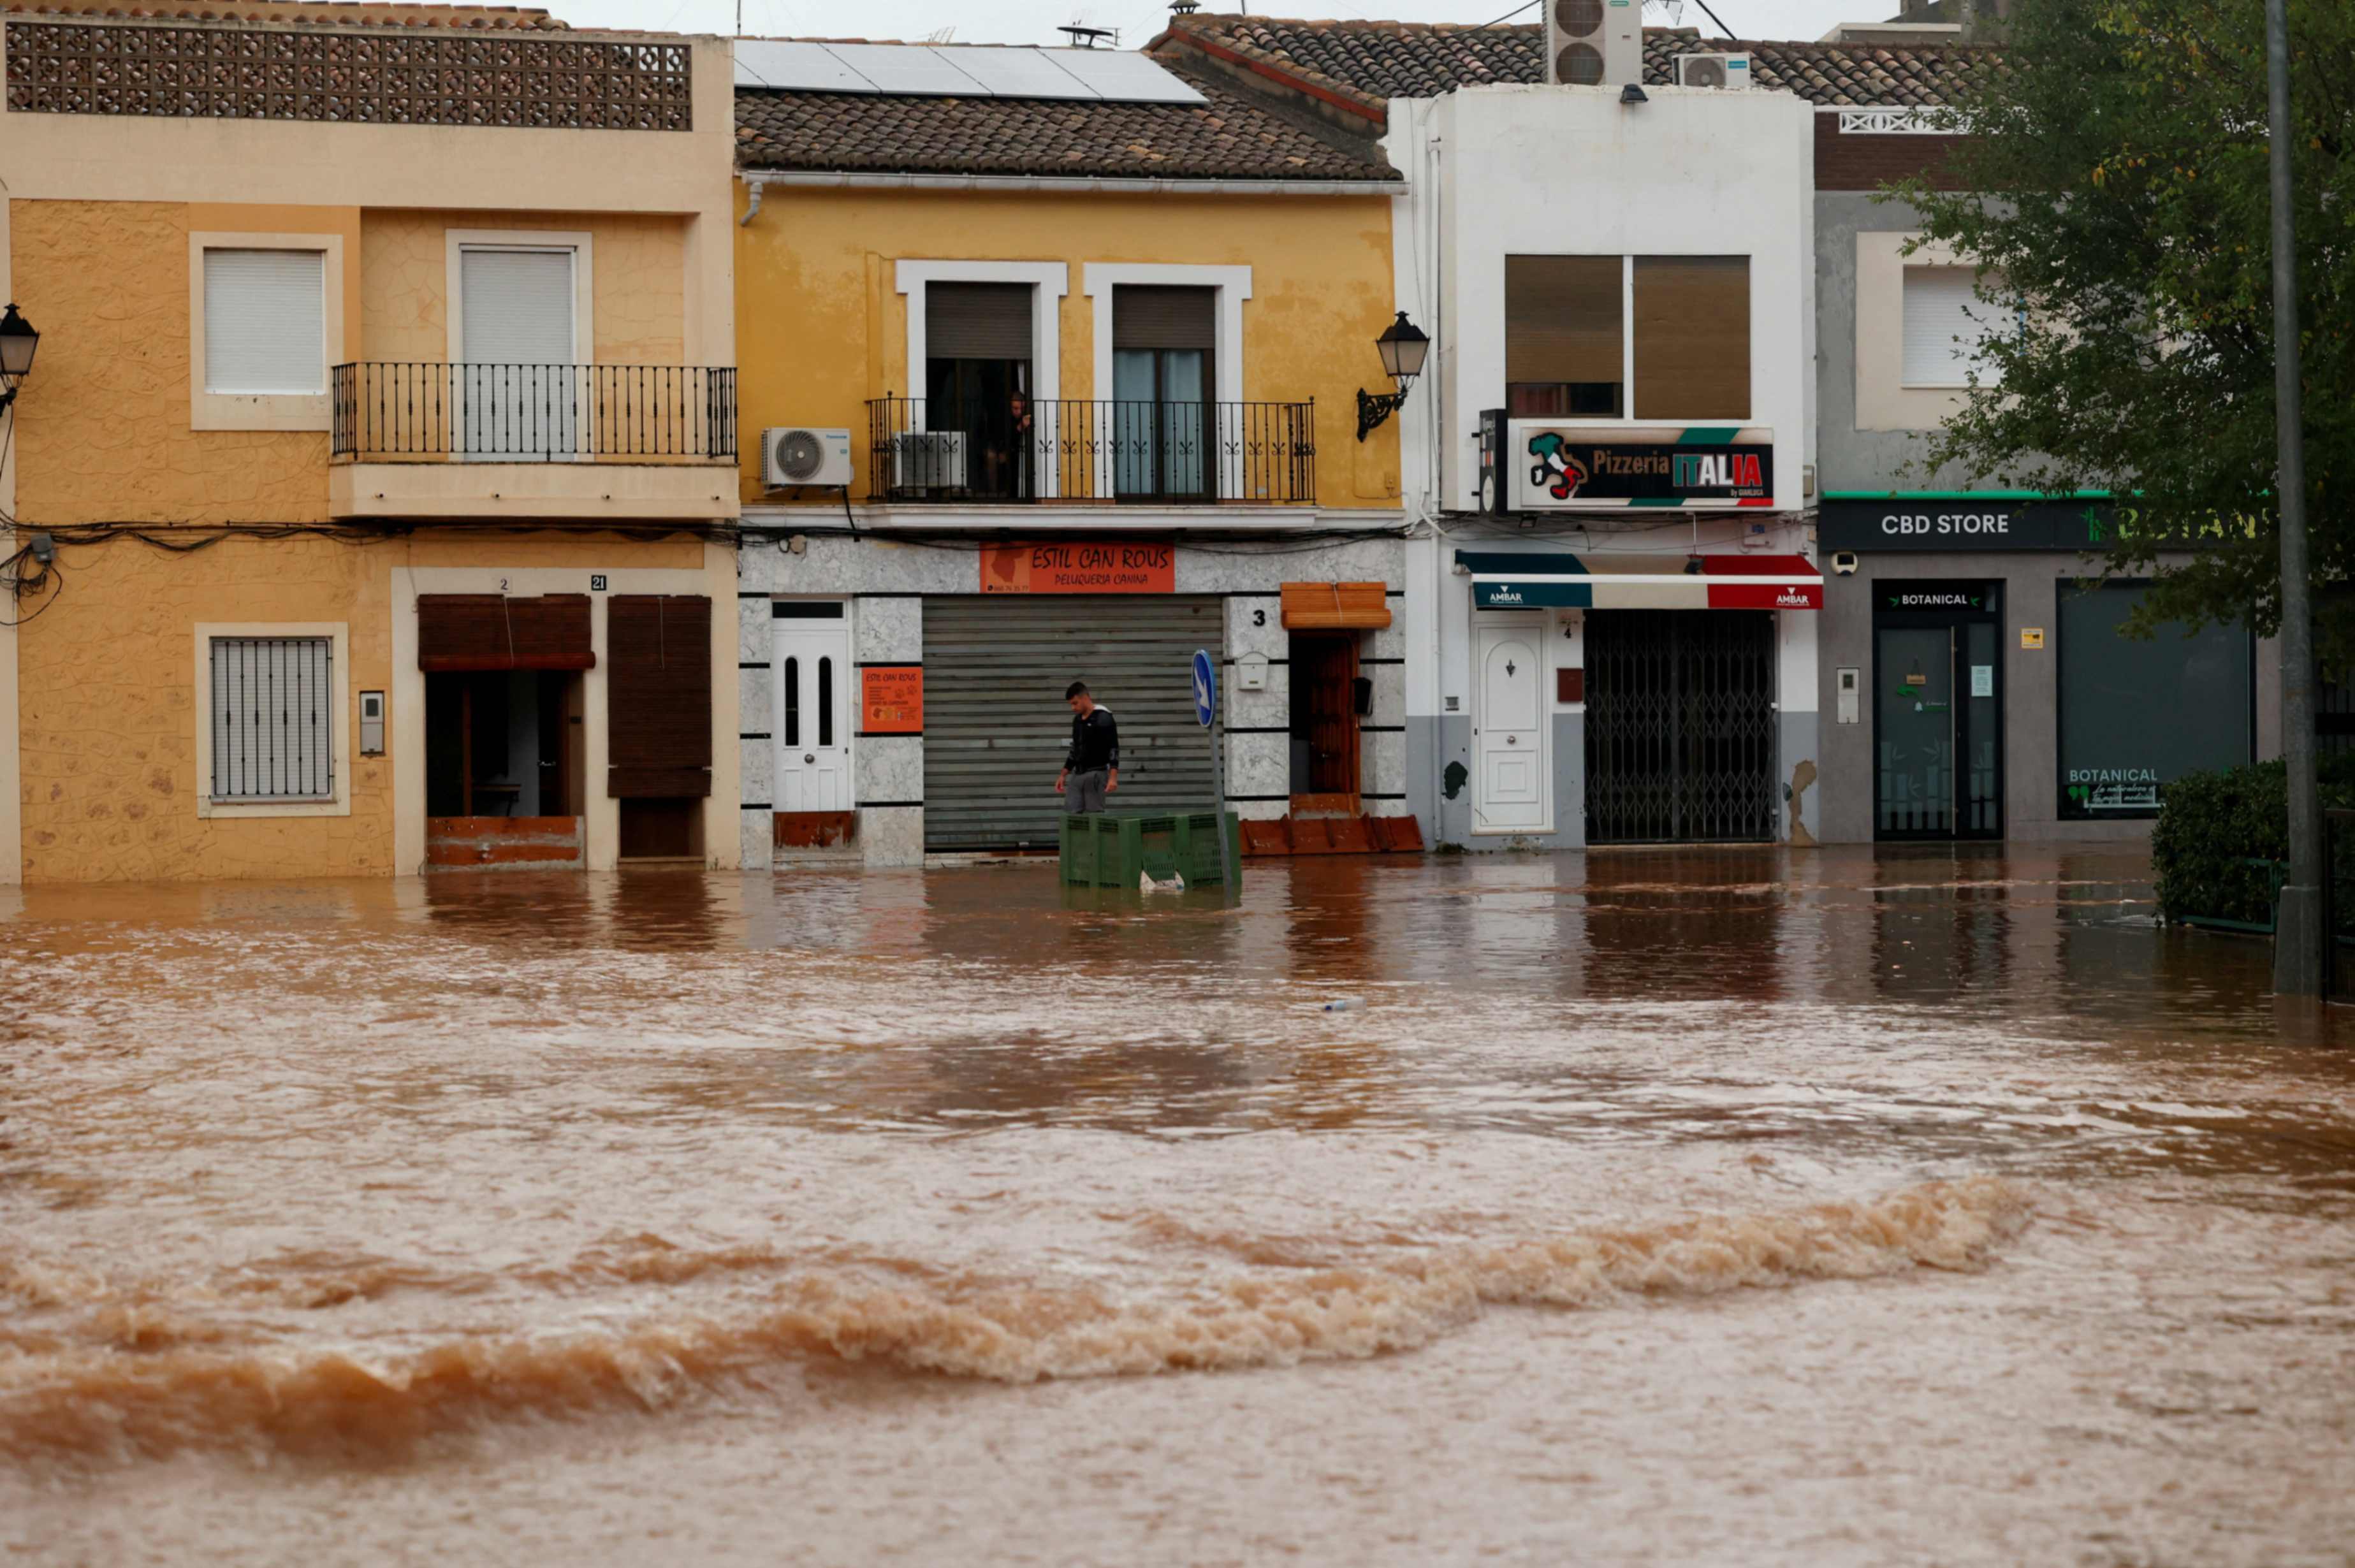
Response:
[[[737,231],[737,365],[744,499],[761,501],[758,431],[848,426],[867,476],[867,400],[907,386],[907,294],[897,261],[1067,261],[1062,396],[1095,381],[1088,261],[1248,264],[1243,398],[1316,400],[1324,506],[1399,494],[1397,421],[1356,443],[1356,391],[1389,391],[1373,339],[1394,318],[1389,198],[1057,195],[803,191],[770,186]],[[812,501],[822,504],[822,501]]]

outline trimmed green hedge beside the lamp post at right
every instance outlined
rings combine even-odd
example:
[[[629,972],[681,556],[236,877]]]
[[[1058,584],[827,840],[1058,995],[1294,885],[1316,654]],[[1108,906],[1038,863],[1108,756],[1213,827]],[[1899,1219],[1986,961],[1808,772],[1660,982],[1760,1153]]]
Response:
[[[2355,756],[2322,760],[2322,805],[2355,808]],[[2160,916],[2273,923],[2273,878],[2249,862],[2289,859],[2289,770],[2254,763],[2160,786],[2150,869]]]

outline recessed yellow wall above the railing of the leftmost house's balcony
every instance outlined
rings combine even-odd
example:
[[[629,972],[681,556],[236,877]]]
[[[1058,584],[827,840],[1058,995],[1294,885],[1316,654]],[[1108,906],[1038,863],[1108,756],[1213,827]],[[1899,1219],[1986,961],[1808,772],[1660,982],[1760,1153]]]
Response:
[[[603,365],[688,360],[688,219],[563,212],[405,212],[360,219],[360,341],[356,358],[450,358],[452,228],[589,235],[593,358]]]

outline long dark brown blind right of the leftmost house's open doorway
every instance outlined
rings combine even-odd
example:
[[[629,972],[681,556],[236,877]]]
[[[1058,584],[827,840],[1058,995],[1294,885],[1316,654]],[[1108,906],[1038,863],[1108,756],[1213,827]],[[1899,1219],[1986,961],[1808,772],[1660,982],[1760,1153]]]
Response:
[[[615,800],[711,793],[711,600],[605,603],[605,756]]]

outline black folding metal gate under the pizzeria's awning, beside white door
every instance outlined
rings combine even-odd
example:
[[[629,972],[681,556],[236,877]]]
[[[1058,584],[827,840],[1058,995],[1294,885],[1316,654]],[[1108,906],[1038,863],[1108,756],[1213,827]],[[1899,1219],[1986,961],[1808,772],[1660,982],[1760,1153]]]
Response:
[[[1587,843],[1776,838],[1773,614],[1587,614]]]

